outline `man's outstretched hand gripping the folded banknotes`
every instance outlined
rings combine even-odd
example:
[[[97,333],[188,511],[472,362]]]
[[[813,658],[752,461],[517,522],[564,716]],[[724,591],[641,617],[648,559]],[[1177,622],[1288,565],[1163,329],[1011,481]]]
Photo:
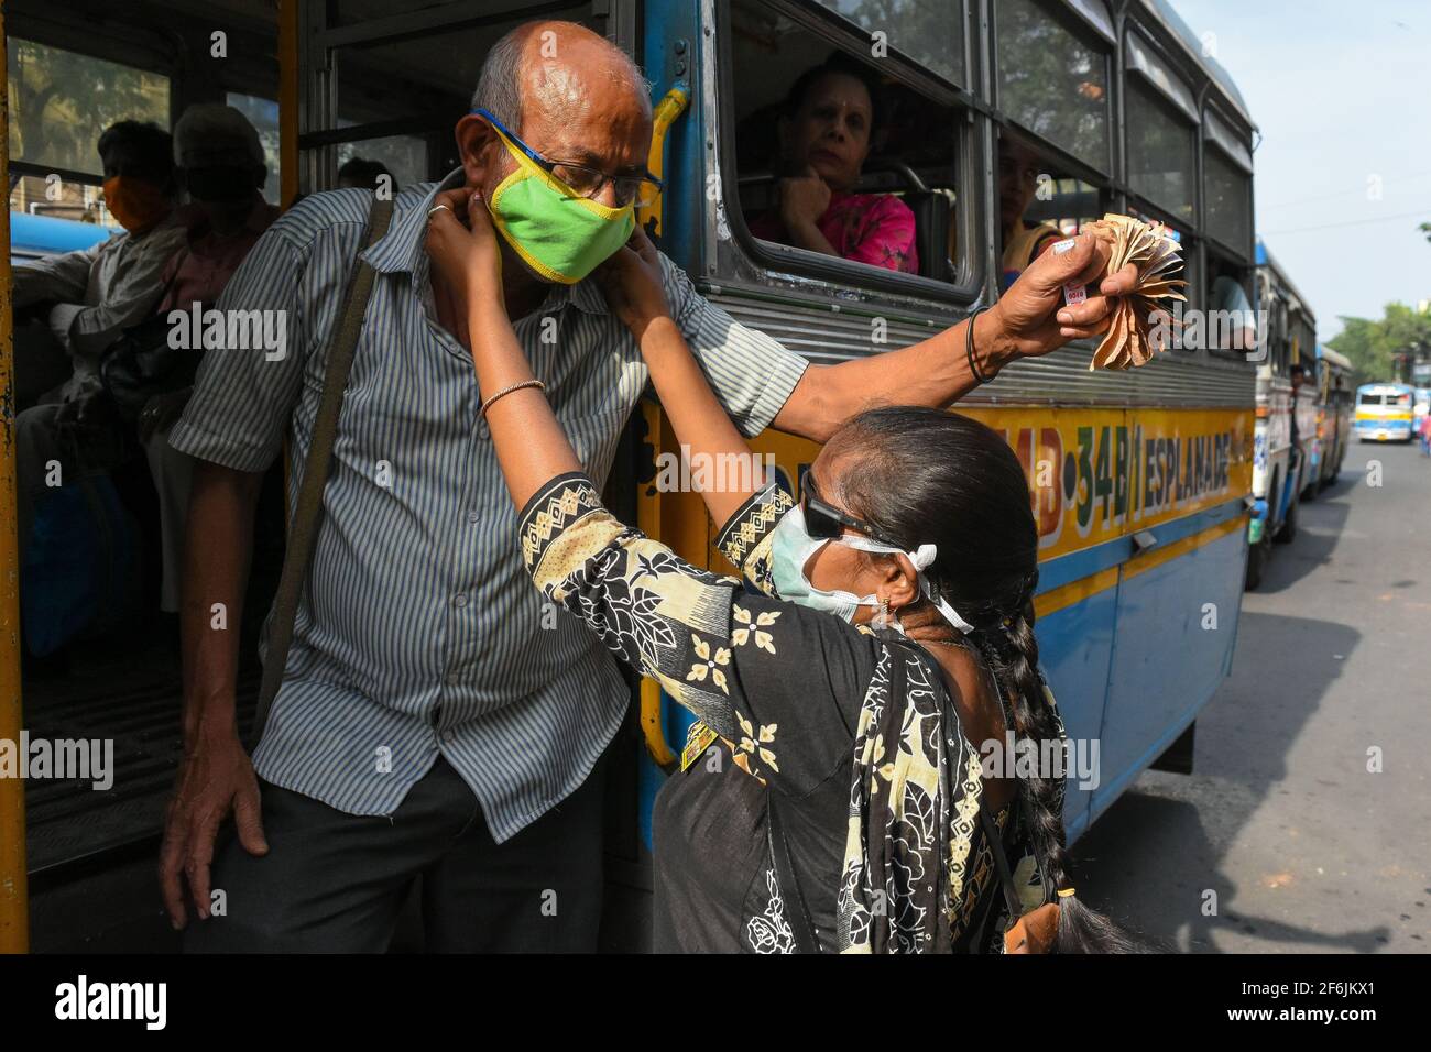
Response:
[[[1112,250],[1112,238],[1096,230],[1085,230],[1062,252],[1058,245],[1050,248],[1029,263],[993,309],[977,318],[976,346],[990,348],[990,361],[997,368],[1013,358],[1046,355],[1070,339],[1106,331],[1112,298],[1132,292],[1138,268],[1129,263],[1108,275],[1098,283],[1096,295],[1090,288],[1089,298],[1078,306],[1063,305],[1063,286],[1098,282]]]

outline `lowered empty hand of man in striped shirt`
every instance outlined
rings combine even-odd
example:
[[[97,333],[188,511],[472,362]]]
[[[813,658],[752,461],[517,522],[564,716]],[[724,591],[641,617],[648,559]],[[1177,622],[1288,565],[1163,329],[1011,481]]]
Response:
[[[259,810],[259,783],[238,731],[200,737],[179,769],[179,781],[165,817],[159,852],[159,883],[165,909],[176,929],[187,923],[180,870],[189,882],[195,910],[209,917],[209,865],[213,840],[223,819],[233,812],[239,843],[249,854],[268,854]]]

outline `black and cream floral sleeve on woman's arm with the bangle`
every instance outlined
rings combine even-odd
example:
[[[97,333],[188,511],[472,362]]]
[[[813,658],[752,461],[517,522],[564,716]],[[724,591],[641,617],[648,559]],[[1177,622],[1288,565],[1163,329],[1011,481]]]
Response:
[[[773,522],[788,500],[757,494],[723,535],[751,518]],[[544,485],[519,530],[537,587],[726,739],[740,767],[800,796],[849,764],[877,664],[873,635],[693,567],[620,522],[578,472]],[[768,525],[741,535],[753,544],[738,565],[768,578]]]

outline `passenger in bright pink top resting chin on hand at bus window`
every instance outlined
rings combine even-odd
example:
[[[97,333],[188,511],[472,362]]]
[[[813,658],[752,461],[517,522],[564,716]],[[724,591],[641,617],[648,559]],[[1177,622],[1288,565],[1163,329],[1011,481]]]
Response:
[[[801,73],[777,120],[777,205],[763,240],[919,273],[914,213],[892,193],[854,193],[880,119],[879,84],[843,52]]]

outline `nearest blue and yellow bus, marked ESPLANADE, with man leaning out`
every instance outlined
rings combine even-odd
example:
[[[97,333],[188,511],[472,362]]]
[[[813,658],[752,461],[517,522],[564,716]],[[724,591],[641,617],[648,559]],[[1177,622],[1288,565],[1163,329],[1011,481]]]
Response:
[[[245,6],[226,29],[222,62],[210,47],[213,13],[152,0],[117,42],[92,29],[113,17],[107,6],[11,0],[11,47],[89,63],[122,83],[135,107],[149,107],[139,116],[160,123],[189,102],[226,99],[273,149],[282,203],[335,186],[352,156],[382,160],[401,185],[442,177],[456,166],[452,126],[499,36],[534,13],[604,33],[641,64],[661,103],[653,165],[668,189],[643,218],[647,229],[711,302],[811,361],[909,345],[996,299],[1000,159],[1015,152],[1032,159],[1025,163],[1039,185],[1019,223],[1072,233],[1105,212],[1159,220],[1182,245],[1189,308],[1211,306],[1211,291],[1229,285],[1256,299],[1255,126],[1236,86],[1165,0],[571,0],[537,9],[280,0]],[[880,84],[886,133],[860,189],[894,193],[913,210],[917,273],[753,233],[774,192],[780,103],[798,73],[831,52],[864,63]],[[23,110],[26,97],[11,119],[37,122]],[[109,110],[66,113],[97,135]],[[110,119],[120,116],[133,115]],[[69,183],[100,182],[92,160],[52,153],[31,137],[11,173],[43,180],[59,169]],[[1022,361],[957,406],[1000,431],[1027,471],[1042,537],[1043,664],[1069,736],[1100,749],[1096,784],[1069,784],[1072,837],[1148,767],[1192,769],[1198,714],[1232,663],[1254,482],[1256,369],[1246,354],[1189,345],[1132,372],[1095,372],[1092,352],[1085,344]],[[756,447],[793,482],[816,454],[774,432]],[[648,485],[655,457],[674,448],[660,406],[643,404],[607,501],[694,561],[720,565],[698,494]],[[260,505],[259,525],[282,537],[280,501]],[[13,565],[13,547],[6,554]],[[269,577],[265,590],[265,565],[275,568],[260,544],[246,604],[259,614],[273,584]],[[19,698],[16,635],[0,646],[6,696]],[[240,730],[258,687],[250,638],[243,653]],[[63,890],[96,867],[152,857],[157,843],[177,760],[177,663],[146,651],[92,664],[24,681],[24,726],[83,711],[92,736],[114,721],[122,754],[106,800],[47,793],[26,807],[19,783],[0,783],[0,824],[13,833],[30,820],[29,866],[14,837],[0,857],[9,889],[0,940],[11,948],[23,945],[27,872],[44,893]],[[0,707],[0,737],[19,730],[19,713]],[[644,916],[650,799],[675,759],[681,719],[654,683],[633,684],[607,837],[608,903],[624,917]],[[640,945],[640,923],[612,927],[621,936],[611,946]]]

